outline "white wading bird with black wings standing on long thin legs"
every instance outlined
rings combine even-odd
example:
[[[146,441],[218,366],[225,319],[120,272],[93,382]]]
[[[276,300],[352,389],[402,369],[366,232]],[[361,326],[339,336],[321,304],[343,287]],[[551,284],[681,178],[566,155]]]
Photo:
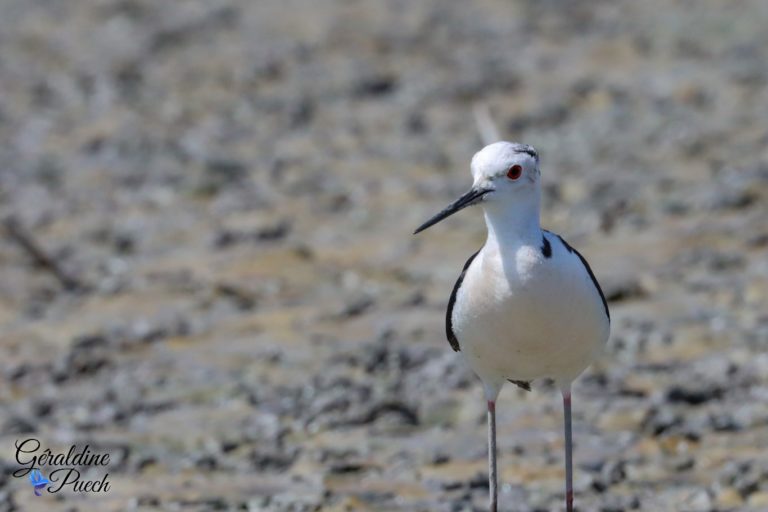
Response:
[[[599,354],[610,313],[589,264],[539,222],[539,155],[496,142],[472,158],[472,188],[415,233],[471,205],[485,213],[488,237],[451,292],[446,332],[483,383],[488,403],[490,510],[497,510],[496,399],[505,382],[529,390],[552,379],[563,397],[565,501],[573,511],[571,383]],[[415,234],[414,233],[414,234]]]

